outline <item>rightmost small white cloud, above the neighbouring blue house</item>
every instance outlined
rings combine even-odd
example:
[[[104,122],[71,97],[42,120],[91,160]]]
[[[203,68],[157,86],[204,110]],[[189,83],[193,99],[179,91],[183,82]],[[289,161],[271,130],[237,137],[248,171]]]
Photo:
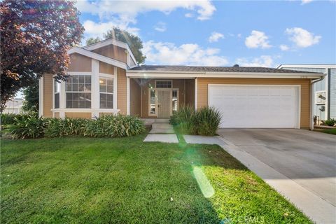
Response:
[[[289,40],[299,48],[307,48],[318,43],[321,39],[321,36],[316,36],[300,27],[287,28],[286,34],[288,34]]]

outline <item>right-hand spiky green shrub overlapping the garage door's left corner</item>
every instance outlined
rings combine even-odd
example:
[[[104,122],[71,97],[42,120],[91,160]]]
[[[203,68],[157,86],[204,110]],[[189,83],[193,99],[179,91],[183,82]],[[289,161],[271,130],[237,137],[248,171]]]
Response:
[[[213,136],[221,123],[221,113],[213,107],[203,107],[196,113],[197,134]]]

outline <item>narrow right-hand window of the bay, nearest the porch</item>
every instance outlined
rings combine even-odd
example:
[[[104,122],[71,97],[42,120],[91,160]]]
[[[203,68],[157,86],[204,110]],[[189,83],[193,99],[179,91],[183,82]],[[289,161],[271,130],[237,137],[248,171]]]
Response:
[[[99,78],[100,108],[113,109],[113,78]]]

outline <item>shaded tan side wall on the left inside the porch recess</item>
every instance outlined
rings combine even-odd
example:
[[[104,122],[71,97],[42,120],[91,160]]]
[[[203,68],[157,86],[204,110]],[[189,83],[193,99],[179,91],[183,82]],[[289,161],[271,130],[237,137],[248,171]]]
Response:
[[[130,79],[130,113],[141,116],[141,87],[134,78]]]

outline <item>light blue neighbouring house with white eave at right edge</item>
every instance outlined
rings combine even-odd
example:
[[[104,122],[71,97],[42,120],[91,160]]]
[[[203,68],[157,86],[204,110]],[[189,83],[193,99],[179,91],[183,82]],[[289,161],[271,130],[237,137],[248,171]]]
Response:
[[[278,69],[325,73],[323,80],[314,83],[314,116],[336,119],[336,64],[281,64]]]

